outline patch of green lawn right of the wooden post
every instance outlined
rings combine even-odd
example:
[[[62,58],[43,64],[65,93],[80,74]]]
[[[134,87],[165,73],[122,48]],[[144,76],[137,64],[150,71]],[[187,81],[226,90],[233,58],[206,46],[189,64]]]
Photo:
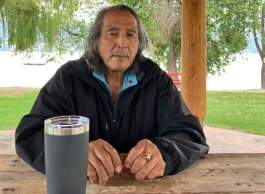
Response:
[[[265,93],[208,92],[205,125],[265,135]]]

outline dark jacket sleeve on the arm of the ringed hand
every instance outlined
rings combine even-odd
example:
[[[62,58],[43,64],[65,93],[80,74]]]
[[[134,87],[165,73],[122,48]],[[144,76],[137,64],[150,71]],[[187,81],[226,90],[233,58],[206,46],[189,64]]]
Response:
[[[165,72],[158,79],[156,117],[158,137],[152,141],[166,162],[164,175],[176,174],[208,153],[198,119],[190,113]]]

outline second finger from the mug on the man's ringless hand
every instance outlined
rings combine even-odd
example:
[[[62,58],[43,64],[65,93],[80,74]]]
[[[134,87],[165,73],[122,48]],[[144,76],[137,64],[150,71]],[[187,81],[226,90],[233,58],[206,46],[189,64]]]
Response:
[[[106,152],[104,149],[97,149],[96,146],[94,147],[94,152],[97,158],[101,161],[101,163],[105,167],[108,176],[112,177],[114,175],[114,166],[112,164],[112,159],[109,153]]]

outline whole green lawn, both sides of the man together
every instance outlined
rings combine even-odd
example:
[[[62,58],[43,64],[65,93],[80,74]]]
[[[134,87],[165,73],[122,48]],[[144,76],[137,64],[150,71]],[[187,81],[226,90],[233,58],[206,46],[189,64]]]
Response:
[[[15,129],[38,91],[1,95],[0,130]],[[205,125],[265,135],[265,93],[207,92]]]

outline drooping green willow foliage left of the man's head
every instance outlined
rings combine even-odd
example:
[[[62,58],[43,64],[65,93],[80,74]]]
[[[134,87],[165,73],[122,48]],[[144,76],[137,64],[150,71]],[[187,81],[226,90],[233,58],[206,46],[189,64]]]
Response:
[[[85,37],[86,23],[76,20],[74,14],[79,8],[76,0],[1,0],[2,20],[1,43],[16,51],[58,51],[79,48]],[[0,28],[0,29],[1,29]],[[73,32],[72,32],[73,30]],[[68,33],[77,32],[76,36]]]

